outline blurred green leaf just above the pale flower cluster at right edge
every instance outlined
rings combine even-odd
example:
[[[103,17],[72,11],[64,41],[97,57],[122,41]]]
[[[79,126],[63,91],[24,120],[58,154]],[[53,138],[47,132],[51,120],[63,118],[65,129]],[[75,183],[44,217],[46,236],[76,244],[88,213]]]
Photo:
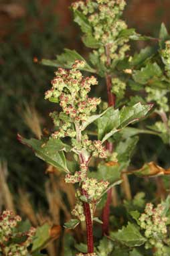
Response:
[[[141,70],[135,70],[133,72],[133,79],[135,82],[139,82],[139,84],[147,84],[149,80],[155,78],[155,76],[161,77],[162,74],[161,68],[154,62],[153,64],[147,64],[147,66],[141,68]]]

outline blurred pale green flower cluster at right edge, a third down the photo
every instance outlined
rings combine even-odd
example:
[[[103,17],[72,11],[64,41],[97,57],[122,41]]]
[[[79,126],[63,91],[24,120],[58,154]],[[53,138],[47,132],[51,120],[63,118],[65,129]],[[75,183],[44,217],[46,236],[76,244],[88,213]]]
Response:
[[[162,88],[151,88],[146,86],[147,101],[151,103],[155,101],[158,105],[158,110],[163,112],[169,111],[169,103],[167,98],[167,90],[163,90]]]

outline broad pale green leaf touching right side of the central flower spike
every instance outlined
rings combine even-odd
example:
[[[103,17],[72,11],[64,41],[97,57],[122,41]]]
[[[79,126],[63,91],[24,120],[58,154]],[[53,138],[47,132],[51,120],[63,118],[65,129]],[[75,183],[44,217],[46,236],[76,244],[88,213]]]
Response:
[[[106,134],[110,132],[112,132],[112,134],[114,134],[114,132],[116,133],[116,128],[119,127],[119,125],[120,115],[118,109],[115,110],[113,107],[108,108],[106,113],[98,119],[98,139],[105,141],[110,135],[109,134],[106,138]]]

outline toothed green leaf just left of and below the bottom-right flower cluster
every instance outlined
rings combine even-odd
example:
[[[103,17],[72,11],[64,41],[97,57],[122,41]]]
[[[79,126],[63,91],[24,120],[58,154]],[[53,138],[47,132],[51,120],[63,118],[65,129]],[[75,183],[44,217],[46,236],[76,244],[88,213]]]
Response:
[[[146,241],[145,237],[143,237],[139,232],[139,229],[137,229],[137,226],[130,222],[118,232],[112,232],[110,234],[110,239],[118,241],[127,247],[141,246]]]

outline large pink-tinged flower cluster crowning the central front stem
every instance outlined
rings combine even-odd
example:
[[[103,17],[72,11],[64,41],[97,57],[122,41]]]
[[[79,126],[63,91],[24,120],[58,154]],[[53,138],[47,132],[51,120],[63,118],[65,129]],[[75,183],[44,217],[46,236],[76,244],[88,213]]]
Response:
[[[46,92],[45,99],[59,103],[62,107],[60,115],[56,111],[50,113],[54,125],[58,128],[52,134],[56,139],[76,137],[72,124],[86,121],[100,104],[99,98],[88,97],[90,86],[98,82],[94,76],[86,78],[82,76],[78,68],[82,68],[85,64],[84,61],[76,60],[71,70],[58,68],[56,77],[52,80],[52,88]]]

